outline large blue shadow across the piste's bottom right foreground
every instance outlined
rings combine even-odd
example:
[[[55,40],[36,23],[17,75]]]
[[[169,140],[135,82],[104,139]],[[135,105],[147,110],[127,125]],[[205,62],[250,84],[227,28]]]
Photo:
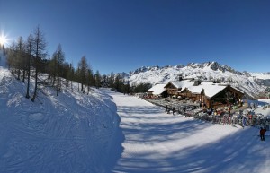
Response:
[[[183,130],[183,129],[179,129]],[[116,172],[261,172],[269,158],[265,142],[260,142],[255,128],[240,130],[214,143],[186,147],[169,155],[158,151],[136,153],[118,167]],[[190,133],[188,130],[184,134]],[[159,134],[157,134],[159,135]],[[170,139],[167,139],[170,140]],[[143,140],[142,140],[143,141]]]

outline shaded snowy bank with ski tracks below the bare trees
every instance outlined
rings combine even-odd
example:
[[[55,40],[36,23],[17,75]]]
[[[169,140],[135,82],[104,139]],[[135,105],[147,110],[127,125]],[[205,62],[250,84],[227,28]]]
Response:
[[[3,66],[0,82],[1,173],[112,169],[123,135],[110,96],[94,89],[82,94],[74,84],[74,91],[65,89],[58,97],[55,90],[41,88],[33,103],[24,97],[25,84]]]

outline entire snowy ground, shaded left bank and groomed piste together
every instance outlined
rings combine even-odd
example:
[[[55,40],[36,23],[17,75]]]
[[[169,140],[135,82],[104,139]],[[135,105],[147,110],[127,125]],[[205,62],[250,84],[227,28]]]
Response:
[[[1,173],[269,172],[270,138],[256,128],[168,115],[108,89],[86,95],[76,83],[58,97],[41,87],[32,103],[0,63]]]

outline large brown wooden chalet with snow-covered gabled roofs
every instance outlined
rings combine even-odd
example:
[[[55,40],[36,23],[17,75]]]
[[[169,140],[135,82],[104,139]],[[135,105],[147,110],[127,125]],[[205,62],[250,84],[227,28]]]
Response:
[[[171,98],[189,99],[206,108],[241,104],[244,92],[229,84],[182,80],[168,82],[166,92]]]

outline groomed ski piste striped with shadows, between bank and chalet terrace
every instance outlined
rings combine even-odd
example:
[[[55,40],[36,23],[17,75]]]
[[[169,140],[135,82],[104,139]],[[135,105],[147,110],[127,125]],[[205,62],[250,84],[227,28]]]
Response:
[[[269,140],[252,127],[166,114],[145,100],[108,92],[125,136],[112,172],[268,172]]]

